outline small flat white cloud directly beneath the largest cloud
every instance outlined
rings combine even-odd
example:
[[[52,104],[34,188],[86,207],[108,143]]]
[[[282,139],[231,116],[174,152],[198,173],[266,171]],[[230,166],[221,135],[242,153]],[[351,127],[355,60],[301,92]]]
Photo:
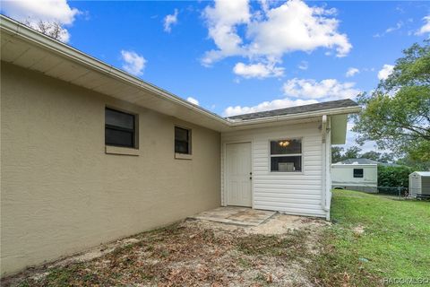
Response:
[[[264,65],[262,63],[245,65],[244,63],[237,63],[233,68],[233,72],[246,79],[249,78],[267,78],[267,77],[280,77],[284,74],[284,68],[277,67],[274,64]]]

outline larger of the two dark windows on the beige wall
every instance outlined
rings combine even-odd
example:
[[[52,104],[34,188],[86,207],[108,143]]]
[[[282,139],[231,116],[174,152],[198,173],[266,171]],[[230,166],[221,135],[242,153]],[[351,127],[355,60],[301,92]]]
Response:
[[[135,116],[116,109],[105,109],[105,144],[136,147]]]

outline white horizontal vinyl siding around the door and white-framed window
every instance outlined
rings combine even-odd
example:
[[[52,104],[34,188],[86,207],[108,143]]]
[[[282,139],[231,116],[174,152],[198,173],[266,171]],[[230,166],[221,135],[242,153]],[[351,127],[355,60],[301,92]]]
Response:
[[[226,143],[252,143],[253,208],[326,217],[323,210],[323,146],[321,121],[274,126],[221,134],[221,199],[225,200],[224,161]],[[271,172],[270,142],[302,140],[302,171]]]

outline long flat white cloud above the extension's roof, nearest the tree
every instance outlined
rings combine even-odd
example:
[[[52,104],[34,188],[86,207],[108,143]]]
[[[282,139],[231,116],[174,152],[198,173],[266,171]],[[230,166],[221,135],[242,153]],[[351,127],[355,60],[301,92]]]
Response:
[[[356,83],[340,83],[336,79],[325,79],[317,82],[312,79],[288,80],[282,90],[290,98],[313,100],[341,100],[350,99],[360,92],[355,88]]]

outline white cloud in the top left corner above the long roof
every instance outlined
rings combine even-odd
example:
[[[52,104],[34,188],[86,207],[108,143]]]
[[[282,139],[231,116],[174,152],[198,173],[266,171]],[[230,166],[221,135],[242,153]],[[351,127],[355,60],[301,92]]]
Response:
[[[70,39],[68,30],[64,25],[72,25],[78,9],[72,8],[66,0],[19,0],[2,1],[2,11],[19,22],[28,22],[31,28],[39,30],[40,21],[61,26],[60,40],[67,42]]]

